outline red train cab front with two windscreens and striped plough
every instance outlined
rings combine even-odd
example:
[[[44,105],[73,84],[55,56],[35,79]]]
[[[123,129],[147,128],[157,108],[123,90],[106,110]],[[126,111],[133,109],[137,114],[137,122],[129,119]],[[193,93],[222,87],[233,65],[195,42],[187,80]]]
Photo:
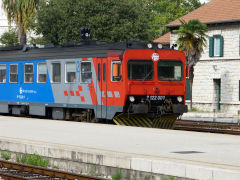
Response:
[[[187,112],[183,52],[128,49],[121,62],[113,66],[113,77],[121,78],[118,85],[124,97],[118,101],[124,108],[114,117],[117,124],[170,128],[179,115]]]

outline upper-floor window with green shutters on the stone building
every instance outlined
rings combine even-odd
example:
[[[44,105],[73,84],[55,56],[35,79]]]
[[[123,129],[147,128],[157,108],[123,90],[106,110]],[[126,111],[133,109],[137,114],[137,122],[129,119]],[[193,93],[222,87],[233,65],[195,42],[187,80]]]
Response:
[[[209,38],[209,56],[223,57],[223,36],[214,35]]]

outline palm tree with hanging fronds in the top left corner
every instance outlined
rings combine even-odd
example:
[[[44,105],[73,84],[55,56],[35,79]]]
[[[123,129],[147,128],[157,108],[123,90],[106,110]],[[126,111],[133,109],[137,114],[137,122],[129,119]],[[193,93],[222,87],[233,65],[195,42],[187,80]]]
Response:
[[[2,7],[7,13],[9,24],[14,22],[17,25],[20,45],[26,44],[26,32],[34,21],[37,4],[38,0],[2,1]]]

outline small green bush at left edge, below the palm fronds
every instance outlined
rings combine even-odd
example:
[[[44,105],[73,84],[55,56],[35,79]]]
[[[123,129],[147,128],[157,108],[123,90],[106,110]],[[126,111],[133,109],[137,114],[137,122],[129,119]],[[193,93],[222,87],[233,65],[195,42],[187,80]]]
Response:
[[[18,44],[17,33],[15,29],[10,29],[0,37],[0,43],[4,46],[16,46]]]

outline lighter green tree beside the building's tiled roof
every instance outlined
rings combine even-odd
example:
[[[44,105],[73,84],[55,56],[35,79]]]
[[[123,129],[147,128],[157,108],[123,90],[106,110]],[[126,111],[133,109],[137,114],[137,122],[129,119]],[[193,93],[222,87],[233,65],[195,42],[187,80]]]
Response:
[[[165,25],[199,8],[199,0],[153,0],[151,3],[154,37],[165,34]]]

